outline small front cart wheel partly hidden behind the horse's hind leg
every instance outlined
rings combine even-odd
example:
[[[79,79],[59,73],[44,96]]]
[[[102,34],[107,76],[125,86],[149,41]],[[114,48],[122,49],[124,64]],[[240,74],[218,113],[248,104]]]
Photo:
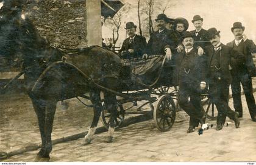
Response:
[[[110,123],[110,113],[105,109],[104,102],[102,103],[103,110],[101,111],[101,122],[106,129],[109,127]],[[119,128],[124,122],[124,108],[123,105],[118,104],[117,108],[117,118],[115,119],[115,128]]]

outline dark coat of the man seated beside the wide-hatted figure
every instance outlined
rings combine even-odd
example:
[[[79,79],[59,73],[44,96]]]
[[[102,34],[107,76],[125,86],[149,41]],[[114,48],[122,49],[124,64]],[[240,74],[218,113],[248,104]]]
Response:
[[[179,38],[174,30],[164,29],[162,32],[154,32],[148,41],[144,53],[149,55],[165,55],[165,49],[170,48],[171,52],[176,51]]]

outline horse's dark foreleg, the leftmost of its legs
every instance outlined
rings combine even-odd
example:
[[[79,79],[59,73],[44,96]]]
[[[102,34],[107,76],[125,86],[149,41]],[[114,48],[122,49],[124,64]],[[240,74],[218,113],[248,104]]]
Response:
[[[41,150],[37,153],[37,157],[35,158],[35,161],[39,161],[40,158],[43,156],[44,153],[44,147],[45,147],[45,132],[44,132],[44,124],[45,124],[45,105],[44,102],[40,101],[39,99],[31,98],[32,104],[35,110],[35,113],[37,114],[38,119],[38,126],[40,130],[41,135]]]

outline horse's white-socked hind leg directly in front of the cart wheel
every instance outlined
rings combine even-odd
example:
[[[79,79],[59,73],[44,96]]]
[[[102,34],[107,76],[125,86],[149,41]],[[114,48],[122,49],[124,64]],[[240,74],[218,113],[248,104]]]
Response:
[[[110,124],[108,127],[107,142],[113,141],[113,134],[115,132],[115,120],[117,118],[117,100],[116,96],[111,93],[104,93],[105,107],[110,112]]]

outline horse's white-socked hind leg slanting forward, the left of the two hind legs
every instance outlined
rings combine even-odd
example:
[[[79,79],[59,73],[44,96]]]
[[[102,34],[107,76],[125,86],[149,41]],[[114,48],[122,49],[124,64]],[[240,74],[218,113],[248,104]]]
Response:
[[[91,122],[91,127],[85,136],[84,144],[89,144],[92,141],[102,111],[101,92],[98,90],[91,91],[90,99],[91,103],[93,104],[93,122]]]

